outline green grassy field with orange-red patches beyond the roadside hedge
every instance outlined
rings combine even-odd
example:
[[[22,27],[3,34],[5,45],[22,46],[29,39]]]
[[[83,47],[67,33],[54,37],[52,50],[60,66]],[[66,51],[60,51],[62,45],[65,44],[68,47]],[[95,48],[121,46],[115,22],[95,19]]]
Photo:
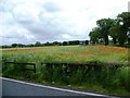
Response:
[[[128,49],[108,46],[57,46],[3,49],[3,60],[18,62],[128,62]]]

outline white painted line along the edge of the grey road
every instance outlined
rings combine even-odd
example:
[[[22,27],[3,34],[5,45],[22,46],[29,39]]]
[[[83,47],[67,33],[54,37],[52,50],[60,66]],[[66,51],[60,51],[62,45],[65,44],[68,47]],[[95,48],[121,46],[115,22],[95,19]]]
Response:
[[[81,94],[81,95],[89,95],[89,96],[96,96],[96,97],[106,97],[106,98],[119,98],[119,97],[112,97],[112,96],[101,95],[101,94],[84,93],[84,91],[77,91],[77,90],[57,88],[57,87],[52,87],[52,86],[44,86],[44,85],[39,85],[39,84],[32,84],[32,83],[16,81],[16,79],[6,78],[6,77],[0,77],[0,78],[5,79],[5,81],[12,81],[12,82],[21,83],[21,84],[37,86],[37,87],[43,87],[43,88],[50,88],[50,89],[54,89],[54,90],[61,90],[61,91],[68,91],[68,93],[75,93],[75,94]]]

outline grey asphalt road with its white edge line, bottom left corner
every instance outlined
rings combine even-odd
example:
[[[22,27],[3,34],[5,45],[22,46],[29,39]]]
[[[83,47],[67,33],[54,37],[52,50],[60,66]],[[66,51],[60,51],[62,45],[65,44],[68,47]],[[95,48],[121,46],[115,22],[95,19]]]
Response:
[[[0,77],[2,96],[87,96],[89,98],[117,98],[106,95],[70,90]]]

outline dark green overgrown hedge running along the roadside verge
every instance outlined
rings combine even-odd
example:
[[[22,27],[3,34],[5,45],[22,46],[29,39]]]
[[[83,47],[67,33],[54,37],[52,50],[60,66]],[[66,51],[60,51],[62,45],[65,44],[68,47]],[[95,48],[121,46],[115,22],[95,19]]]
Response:
[[[105,89],[126,89],[130,91],[130,68],[106,66],[100,62],[88,62],[91,65],[41,64],[37,73],[24,72],[25,65],[3,64],[3,76],[21,76],[35,82],[62,83],[66,85],[100,85]],[[5,70],[4,70],[5,69]]]

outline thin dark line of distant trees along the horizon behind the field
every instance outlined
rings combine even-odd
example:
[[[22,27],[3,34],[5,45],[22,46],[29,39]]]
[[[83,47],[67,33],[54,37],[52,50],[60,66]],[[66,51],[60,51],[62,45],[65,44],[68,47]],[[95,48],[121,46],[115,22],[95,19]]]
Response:
[[[41,44],[40,41],[36,41],[36,44],[29,44],[29,45],[24,45],[24,44],[12,44],[10,46],[1,46],[2,48],[24,48],[24,47],[43,47],[43,46],[70,46],[70,45],[88,45],[89,40],[69,40],[69,41],[53,41],[53,42],[44,42]]]

